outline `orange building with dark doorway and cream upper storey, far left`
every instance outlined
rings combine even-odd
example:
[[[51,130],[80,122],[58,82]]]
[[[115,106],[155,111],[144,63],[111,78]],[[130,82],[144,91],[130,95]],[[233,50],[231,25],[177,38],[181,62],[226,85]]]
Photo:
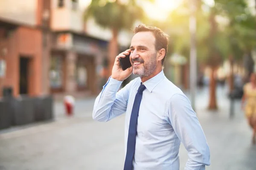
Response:
[[[43,77],[47,64],[42,46],[43,0],[27,1],[0,3],[0,96],[3,88],[12,88],[14,96],[47,94]]]

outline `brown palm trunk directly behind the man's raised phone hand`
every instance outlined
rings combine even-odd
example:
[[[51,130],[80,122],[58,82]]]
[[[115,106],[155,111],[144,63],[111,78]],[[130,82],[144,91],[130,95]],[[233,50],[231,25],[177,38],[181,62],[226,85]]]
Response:
[[[112,68],[115,62],[115,58],[118,55],[118,42],[117,42],[117,37],[118,37],[118,30],[113,28],[112,29],[112,39],[109,42],[108,46],[108,58],[109,58],[109,65],[108,65],[108,70],[109,70],[109,75],[112,74]]]

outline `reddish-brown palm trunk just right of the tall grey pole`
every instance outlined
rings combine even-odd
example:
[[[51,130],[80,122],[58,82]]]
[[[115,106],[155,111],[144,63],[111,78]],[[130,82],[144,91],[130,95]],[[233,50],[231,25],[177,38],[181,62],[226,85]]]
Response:
[[[217,110],[217,102],[216,102],[216,80],[215,80],[215,71],[216,68],[212,67],[211,77],[210,77],[210,84],[209,84],[209,93],[210,93],[210,99],[209,99],[209,110]]]

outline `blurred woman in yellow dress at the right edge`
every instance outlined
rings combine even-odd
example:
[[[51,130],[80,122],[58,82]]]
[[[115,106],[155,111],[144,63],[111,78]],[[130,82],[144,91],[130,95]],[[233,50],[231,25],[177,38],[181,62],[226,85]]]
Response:
[[[256,144],[256,73],[252,73],[250,82],[244,85],[244,95],[241,104],[248,124],[253,129],[252,142]]]

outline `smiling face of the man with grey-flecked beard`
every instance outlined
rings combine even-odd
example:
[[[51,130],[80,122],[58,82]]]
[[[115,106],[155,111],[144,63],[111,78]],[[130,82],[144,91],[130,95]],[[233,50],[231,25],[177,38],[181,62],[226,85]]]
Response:
[[[139,77],[148,77],[157,68],[157,51],[155,49],[155,37],[147,32],[138,32],[131,40],[131,64],[133,74]]]

